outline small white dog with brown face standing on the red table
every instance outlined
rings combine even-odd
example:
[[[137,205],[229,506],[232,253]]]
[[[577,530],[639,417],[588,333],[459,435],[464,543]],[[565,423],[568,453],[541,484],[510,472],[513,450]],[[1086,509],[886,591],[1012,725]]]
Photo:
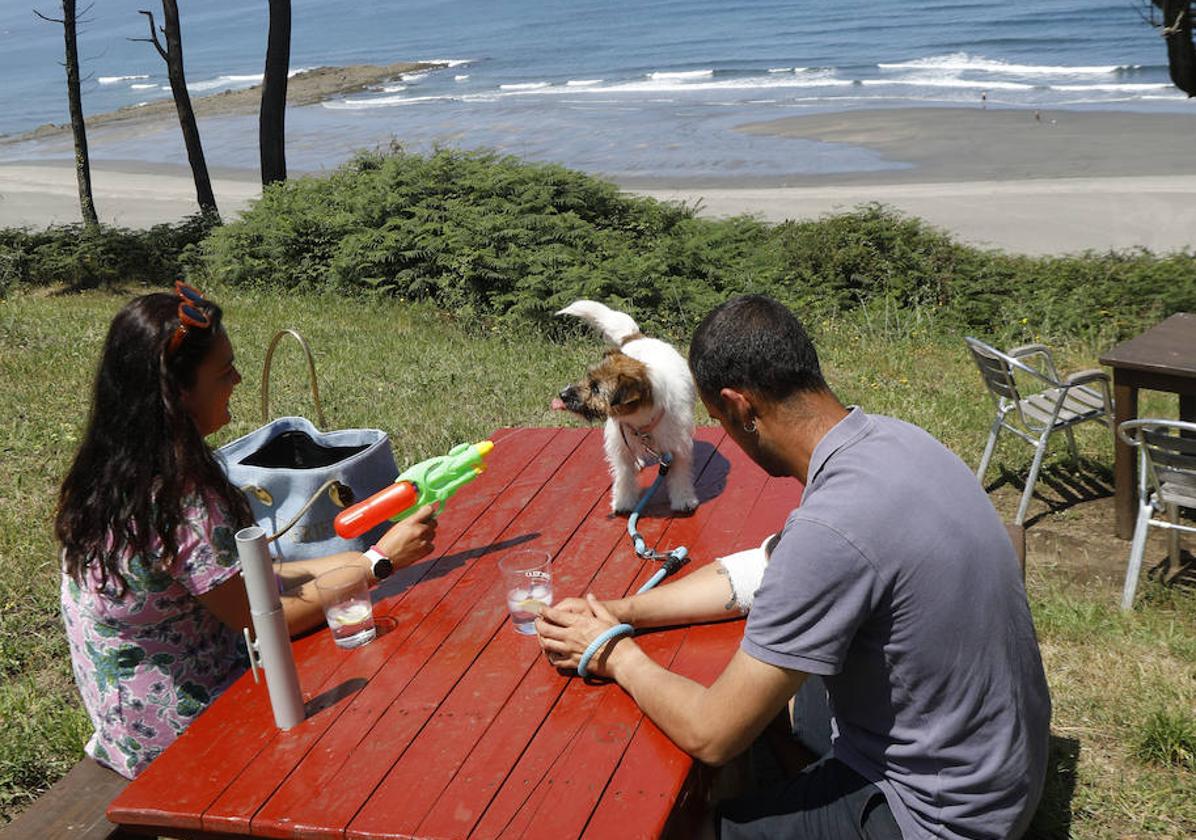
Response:
[[[586,321],[615,345],[582,379],[566,385],[553,400],[556,410],[585,420],[605,418],[606,462],[614,477],[611,509],[629,513],[640,500],[636,473],[651,458],[669,452],[669,505],[675,511],[695,510],[694,377],[681,353],[645,337],[631,316],[593,300],[578,300],[557,315]]]

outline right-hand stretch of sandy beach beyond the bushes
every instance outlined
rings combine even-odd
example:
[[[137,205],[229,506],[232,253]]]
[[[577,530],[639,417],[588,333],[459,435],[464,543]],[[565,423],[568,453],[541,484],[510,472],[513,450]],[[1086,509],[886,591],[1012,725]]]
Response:
[[[642,189],[710,215],[810,219],[879,201],[982,246],[1023,254],[1196,246],[1189,115],[903,108],[740,127],[864,146],[907,169],[775,185]]]

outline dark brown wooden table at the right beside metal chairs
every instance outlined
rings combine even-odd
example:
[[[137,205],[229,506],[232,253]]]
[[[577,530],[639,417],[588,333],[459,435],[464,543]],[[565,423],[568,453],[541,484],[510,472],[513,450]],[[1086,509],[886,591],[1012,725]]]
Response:
[[[1178,312],[1135,339],[1123,341],[1100,357],[1113,369],[1113,419],[1119,426],[1137,418],[1137,391],[1179,395],[1179,419],[1196,420],[1196,315]],[[1134,534],[1137,485],[1134,450],[1115,436],[1113,510],[1117,536]]]

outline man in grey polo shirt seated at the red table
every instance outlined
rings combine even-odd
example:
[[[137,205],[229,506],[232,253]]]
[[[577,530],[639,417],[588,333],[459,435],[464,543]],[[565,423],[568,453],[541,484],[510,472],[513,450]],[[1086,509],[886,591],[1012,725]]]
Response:
[[[709,688],[630,638],[588,670],[616,680],[682,749],[743,751],[807,674],[824,677],[831,755],[724,803],[722,838],[1020,835],[1042,793],[1050,699],[1018,561],[971,470],[922,430],[844,408],[798,319],[761,296],[694,335],[702,402],[769,475],[805,485],[771,549],[744,640]],[[633,598],[569,599],[536,627],[575,668],[599,633],[727,617],[718,562]]]

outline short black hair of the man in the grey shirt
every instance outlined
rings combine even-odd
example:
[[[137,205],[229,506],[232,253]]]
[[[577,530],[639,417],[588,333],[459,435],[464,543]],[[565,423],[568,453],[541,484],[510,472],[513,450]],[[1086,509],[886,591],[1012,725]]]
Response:
[[[689,345],[689,366],[707,398],[719,400],[724,388],[755,391],[774,402],[826,390],[801,322],[763,294],[733,298],[707,315]]]

